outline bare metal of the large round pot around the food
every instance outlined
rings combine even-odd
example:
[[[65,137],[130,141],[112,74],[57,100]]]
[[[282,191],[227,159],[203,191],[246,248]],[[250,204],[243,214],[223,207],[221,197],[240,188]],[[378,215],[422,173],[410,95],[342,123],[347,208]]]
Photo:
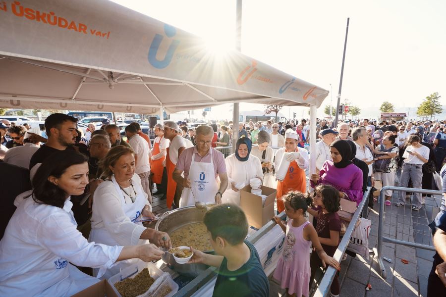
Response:
[[[185,225],[203,222],[205,213],[205,209],[198,209],[195,206],[187,206],[168,211],[166,215],[157,222],[155,230],[170,234]],[[214,253],[214,250],[206,250],[204,252]],[[162,259],[170,269],[175,270],[181,275],[190,277],[196,277],[209,267],[205,264],[178,264],[168,252],[163,255]]]

